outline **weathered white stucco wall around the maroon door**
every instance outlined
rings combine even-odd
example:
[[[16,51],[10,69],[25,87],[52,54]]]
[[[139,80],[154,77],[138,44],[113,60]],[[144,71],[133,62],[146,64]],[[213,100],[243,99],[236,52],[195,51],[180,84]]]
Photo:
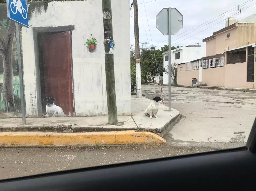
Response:
[[[112,0],[115,88],[118,115],[131,115],[129,1]],[[77,116],[108,115],[105,79],[104,34],[101,0],[49,2],[47,11],[34,11],[30,28],[22,28],[24,83],[28,116],[38,115],[34,27],[74,25],[72,57],[74,106]],[[85,42],[91,34],[98,40],[90,53]],[[37,72],[36,72],[37,71]],[[45,106],[42,106],[45,107]]]

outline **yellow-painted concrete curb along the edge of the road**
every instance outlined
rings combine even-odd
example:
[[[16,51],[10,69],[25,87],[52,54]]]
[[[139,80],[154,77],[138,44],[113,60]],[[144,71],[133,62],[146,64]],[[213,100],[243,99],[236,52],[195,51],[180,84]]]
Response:
[[[136,131],[88,133],[2,132],[0,146],[68,146],[166,143],[157,134]]]

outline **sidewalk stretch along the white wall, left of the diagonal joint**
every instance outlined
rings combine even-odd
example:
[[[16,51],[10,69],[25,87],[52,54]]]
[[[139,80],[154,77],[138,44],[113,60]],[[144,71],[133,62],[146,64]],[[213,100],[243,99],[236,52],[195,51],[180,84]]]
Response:
[[[118,125],[108,124],[108,116],[96,117],[33,117],[26,118],[26,125],[21,118],[0,119],[0,132],[39,131],[39,132],[91,132],[136,130],[131,116],[118,116]]]

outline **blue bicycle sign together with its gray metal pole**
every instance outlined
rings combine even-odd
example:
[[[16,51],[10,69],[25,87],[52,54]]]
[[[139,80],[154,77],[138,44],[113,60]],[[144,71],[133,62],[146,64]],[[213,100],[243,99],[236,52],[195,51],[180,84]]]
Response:
[[[16,22],[16,40],[19,63],[19,77],[21,89],[21,113],[22,123],[26,124],[26,104],[23,83],[23,59],[21,58],[20,24],[29,27],[27,0],[7,0],[7,17]]]

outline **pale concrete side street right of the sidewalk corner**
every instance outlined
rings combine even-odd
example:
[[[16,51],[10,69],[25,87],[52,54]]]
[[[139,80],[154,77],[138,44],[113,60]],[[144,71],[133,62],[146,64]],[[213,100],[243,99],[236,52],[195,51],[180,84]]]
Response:
[[[143,85],[142,89],[149,99],[161,95],[157,85]],[[162,89],[168,106],[168,86]],[[186,142],[229,142],[235,132],[245,132],[247,140],[256,116],[255,93],[183,87],[172,87],[171,92],[172,108],[183,118],[166,137]]]

